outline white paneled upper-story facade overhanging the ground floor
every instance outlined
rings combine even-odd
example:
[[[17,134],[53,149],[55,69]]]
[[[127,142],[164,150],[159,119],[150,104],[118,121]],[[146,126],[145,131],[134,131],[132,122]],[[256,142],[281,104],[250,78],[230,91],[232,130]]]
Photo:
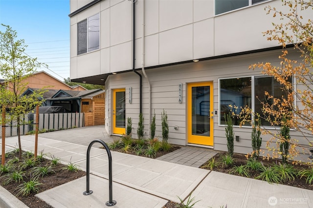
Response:
[[[70,0],[70,12],[93,0]],[[142,3],[135,1],[135,68],[142,64]],[[278,46],[262,32],[272,27],[268,0],[214,14],[214,0],[144,0],[144,66],[157,66]],[[77,23],[100,14],[100,47],[77,55]],[[129,0],[102,0],[70,18],[70,78],[132,69],[133,5]]]

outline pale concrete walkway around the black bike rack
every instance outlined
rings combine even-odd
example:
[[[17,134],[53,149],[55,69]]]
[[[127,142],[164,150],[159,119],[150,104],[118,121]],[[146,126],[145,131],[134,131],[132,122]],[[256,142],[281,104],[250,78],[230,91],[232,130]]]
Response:
[[[78,130],[79,135],[76,135],[75,130]],[[64,130],[62,134],[67,139],[79,138],[82,132],[94,130],[95,128],[84,127]],[[91,135],[91,132],[89,133]],[[44,150],[44,153],[61,158],[64,163],[71,161],[86,169],[87,146],[62,141],[60,135],[61,132],[58,131],[40,134],[38,148]],[[89,143],[87,138],[83,139]],[[93,138],[90,138],[90,142],[92,140]],[[13,148],[16,143],[16,137],[7,138],[7,149]],[[25,150],[33,151],[34,136],[22,136],[22,146]],[[184,155],[187,151],[185,148],[181,150],[180,160],[187,160]],[[207,157],[210,157],[209,155],[214,153],[207,154]],[[173,155],[170,155],[166,160],[179,161],[172,157]],[[180,202],[179,198],[186,199],[190,194],[191,198],[195,197],[195,201],[200,200],[195,208],[220,208],[226,205],[227,208],[313,207],[311,190],[271,185],[260,180],[167,162],[164,161],[165,158],[156,160],[112,152],[113,200],[117,201],[114,207],[162,208],[168,200]],[[86,190],[86,177],[44,191],[37,196],[54,208],[106,207],[105,203],[109,200],[108,156],[104,149],[91,148],[90,172],[90,189],[93,193],[89,196],[83,195]]]

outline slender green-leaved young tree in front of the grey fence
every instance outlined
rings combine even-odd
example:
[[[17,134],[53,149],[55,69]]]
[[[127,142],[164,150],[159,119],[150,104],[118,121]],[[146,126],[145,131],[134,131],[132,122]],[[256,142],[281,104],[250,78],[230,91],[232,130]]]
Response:
[[[25,79],[36,72],[36,68],[40,67],[41,63],[37,62],[36,58],[30,58],[24,51],[27,45],[24,40],[17,40],[17,32],[10,26],[1,24],[6,31],[0,31],[0,75],[5,80],[4,85],[0,88],[0,105],[7,106],[9,113],[6,117],[7,121],[17,122],[17,133],[19,149],[21,145],[21,128],[25,124],[21,119],[22,115],[27,114],[35,108],[36,105],[41,105],[44,102],[39,99],[43,96],[44,91],[34,91],[30,95],[22,95],[27,89]],[[20,151],[19,158],[22,158]]]

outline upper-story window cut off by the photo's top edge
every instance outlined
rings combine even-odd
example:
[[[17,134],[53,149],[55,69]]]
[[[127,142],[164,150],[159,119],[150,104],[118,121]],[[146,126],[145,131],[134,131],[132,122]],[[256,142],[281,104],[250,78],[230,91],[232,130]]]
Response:
[[[215,15],[239,9],[266,0],[215,0]]]

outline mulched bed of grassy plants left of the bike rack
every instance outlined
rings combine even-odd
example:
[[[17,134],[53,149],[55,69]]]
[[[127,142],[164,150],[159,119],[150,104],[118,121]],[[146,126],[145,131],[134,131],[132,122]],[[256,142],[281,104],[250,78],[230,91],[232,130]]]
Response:
[[[5,165],[0,165],[0,186],[29,208],[52,208],[35,194],[86,175],[85,171],[76,169],[73,164],[59,163],[54,156],[48,160],[41,153],[35,160],[30,152],[22,152],[22,159],[18,159],[18,154],[18,150],[5,154]]]

